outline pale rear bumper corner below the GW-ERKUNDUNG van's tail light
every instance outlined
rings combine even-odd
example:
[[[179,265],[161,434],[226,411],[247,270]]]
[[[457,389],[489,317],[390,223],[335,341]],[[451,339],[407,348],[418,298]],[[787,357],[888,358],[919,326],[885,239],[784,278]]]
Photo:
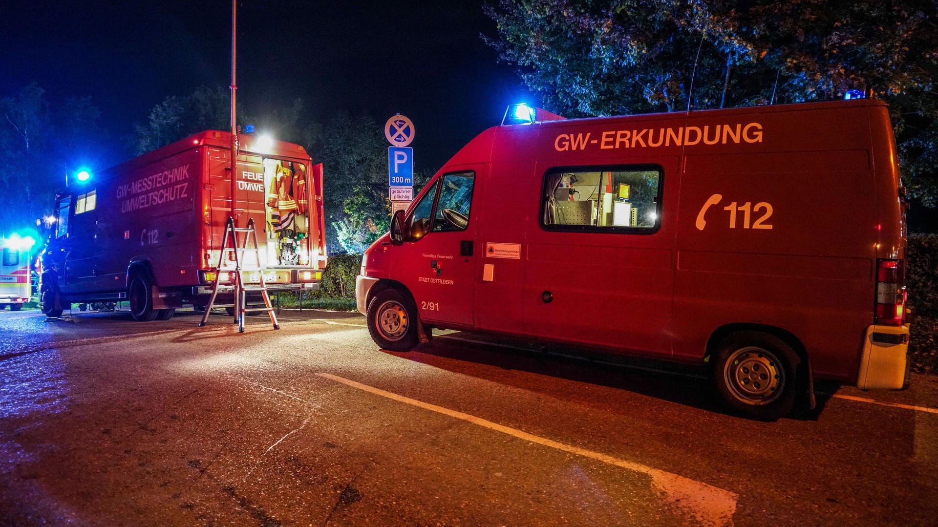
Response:
[[[908,375],[909,324],[870,325],[863,339],[856,387],[898,390]]]

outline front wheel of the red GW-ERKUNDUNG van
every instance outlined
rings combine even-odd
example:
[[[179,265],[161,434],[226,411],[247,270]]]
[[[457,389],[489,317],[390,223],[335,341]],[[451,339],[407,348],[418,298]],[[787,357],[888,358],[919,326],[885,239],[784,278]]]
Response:
[[[417,344],[416,305],[406,294],[386,289],[368,305],[368,331],[382,349],[409,352]]]

